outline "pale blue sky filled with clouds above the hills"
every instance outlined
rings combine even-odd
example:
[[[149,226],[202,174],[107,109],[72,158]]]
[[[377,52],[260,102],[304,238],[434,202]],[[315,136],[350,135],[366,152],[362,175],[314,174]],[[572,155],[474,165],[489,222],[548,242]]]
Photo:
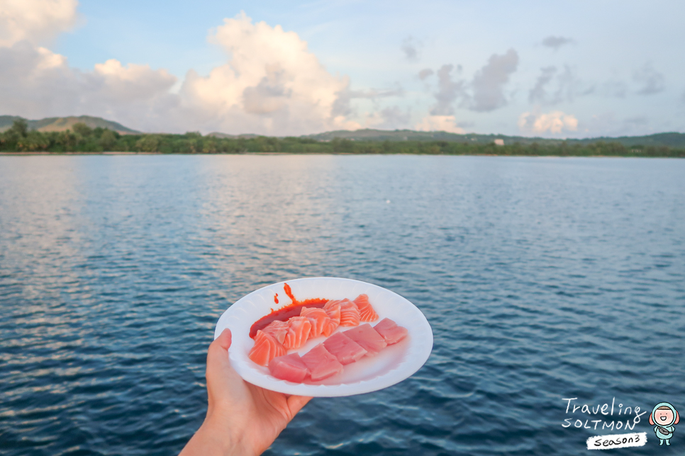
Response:
[[[685,132],[685,2],[0,0],[0,114],[148,132]]]

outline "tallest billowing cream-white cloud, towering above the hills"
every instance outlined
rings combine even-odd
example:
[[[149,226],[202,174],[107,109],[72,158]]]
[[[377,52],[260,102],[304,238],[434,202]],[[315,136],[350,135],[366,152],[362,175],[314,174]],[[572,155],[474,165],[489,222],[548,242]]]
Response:
[[[206,77],[189,72],[180,95],[211,113],[205,121],[213,128],[282,135],[359,126],[344,109],[334,110],[349,80],[327,72],[296,33],[240,13],[225,19],[210,41],[230,60]]]

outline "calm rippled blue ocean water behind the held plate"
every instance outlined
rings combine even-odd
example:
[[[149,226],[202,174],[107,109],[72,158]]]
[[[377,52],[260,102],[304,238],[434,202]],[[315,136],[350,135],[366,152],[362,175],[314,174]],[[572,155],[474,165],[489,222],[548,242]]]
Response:
[[[580,455],[636,407],[616,452],[685,450],[647,422],[685,413],[684,160],[2,156],[0,452],[174,455],[221,313],[316,275],[403,295],[435,346],[269,455]]]

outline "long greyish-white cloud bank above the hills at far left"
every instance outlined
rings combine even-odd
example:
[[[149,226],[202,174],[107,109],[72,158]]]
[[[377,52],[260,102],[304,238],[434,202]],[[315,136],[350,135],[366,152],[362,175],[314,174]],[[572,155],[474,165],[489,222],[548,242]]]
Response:
[[[113,59],[79,72],[64,56],[27,41],[0,47],[3,113],[27,118],[89,114],[154,128],[155,118],[177,103],[169,94],[175,81],[163,69]]]

